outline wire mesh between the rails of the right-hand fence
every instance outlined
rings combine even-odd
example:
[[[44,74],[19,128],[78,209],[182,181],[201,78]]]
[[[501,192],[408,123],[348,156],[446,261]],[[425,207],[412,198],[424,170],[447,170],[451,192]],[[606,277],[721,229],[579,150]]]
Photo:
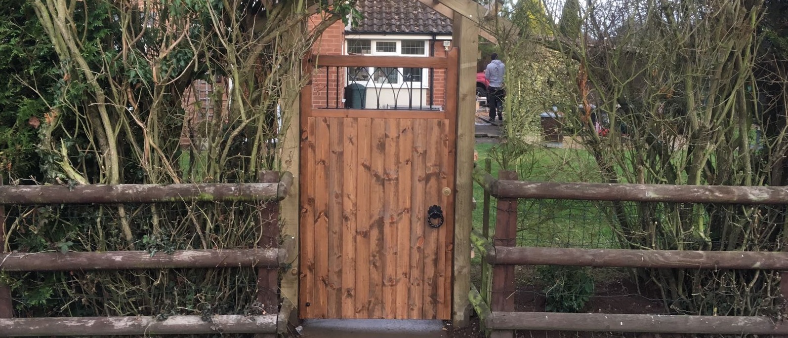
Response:
[[[496,200],[489,204],[490,238]],[[478,208],[482,213],[484,206]],[[783,251],[785,205],[519,199],[518,247]],[[504,239],[511,240],[511,239]],[[780,318],[780,273],[766,269],[517,266],[515,310]],[[682,336],[518,332],[522,337]],[[697,336],[697,335],[695,335]],[[718,335],[719,336],[719,335]]]

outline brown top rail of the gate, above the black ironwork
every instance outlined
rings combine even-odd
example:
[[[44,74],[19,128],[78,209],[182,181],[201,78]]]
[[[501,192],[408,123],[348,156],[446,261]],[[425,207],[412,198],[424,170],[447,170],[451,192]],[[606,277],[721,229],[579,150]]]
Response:
[[[408,67],[445,69],[448,65],[448,60],[440,57],[408,57],[403,61],[402,57],[318,54],[312,55],[312,60],[318,67],[402,67],[407,62]]]

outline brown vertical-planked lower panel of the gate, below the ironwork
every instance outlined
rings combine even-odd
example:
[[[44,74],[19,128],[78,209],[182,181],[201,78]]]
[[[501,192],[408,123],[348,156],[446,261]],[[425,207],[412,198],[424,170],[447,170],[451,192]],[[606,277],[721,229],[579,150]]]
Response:
[[[302,306],[310,303],[309,310],[300,312],[302,318],[450,318],[453,200],[443,192],[451,190],[454,180],[448,122],[328,118],[327,127],[321,127],[320,119],[308,120],[318,121],[314,135],[329,140],[328,150],[315,142],[317,160],[304,161],[314,165],[303,168],[315,173],[314,179],[303,180],[302,191],[314,194],[316,211],[313,224],[302,226],[303,246],[314,243],[313,251],[302,252],[302,257],[313,256],[302,262]],[[353,137],[358,139],[351,142]],[[307,157],[312,156],[312,143],[303,144]],[[330,154],[321,155],[325,151]],[[359,197],[351,192],[364,197],[354,202]],[[307,203],[303,212],[309,213],[310,199],[302,202]],[[324,217],[319,210],[326,203]],[[440,228],[426,225],[426,209],[432,205],[444,210],[447,221]],[[345,236],[348,232],[354,236]],[[315,262],[315,281],[308,278],[310,261]]]

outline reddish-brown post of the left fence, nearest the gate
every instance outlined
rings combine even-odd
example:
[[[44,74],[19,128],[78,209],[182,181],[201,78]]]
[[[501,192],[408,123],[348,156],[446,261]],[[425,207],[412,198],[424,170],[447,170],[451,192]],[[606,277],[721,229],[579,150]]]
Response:
[[[259,183],[279,182],[279,173],[264,171],[258,176]],[[258,204],[258,226],[261,236],[258,247],[269,249],[279,247],[279,202],[265,201]],[[258,268],[257,272],[257,301],[262,306],[264,314],[279,313],[279,269],[272,267]],[[257,338],[276,336],[258,334]]]

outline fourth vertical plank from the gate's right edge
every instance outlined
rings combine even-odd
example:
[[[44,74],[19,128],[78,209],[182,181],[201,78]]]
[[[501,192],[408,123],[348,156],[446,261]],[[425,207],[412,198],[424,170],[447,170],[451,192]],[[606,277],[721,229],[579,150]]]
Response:
[[[400,120],[399,164],[397,169],[398,202],[396,209],[396,317],[407,318],[408,289],[410,288],[411,261],[411,182],[413,153],[413,121]]]

